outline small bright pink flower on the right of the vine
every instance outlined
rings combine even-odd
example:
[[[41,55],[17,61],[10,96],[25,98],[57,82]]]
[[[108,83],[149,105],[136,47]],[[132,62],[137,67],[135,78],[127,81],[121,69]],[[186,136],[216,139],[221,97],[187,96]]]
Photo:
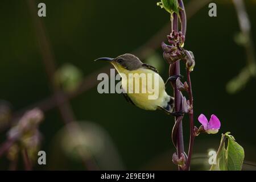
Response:
[[[218,133],[218,130],[221,126],[220,120],[214,114],[212,114],[212,116],[210,117],[209,122],[204,114],[200,114],[198,117],[198,121],[203,125],[205,132],[208,134]]]

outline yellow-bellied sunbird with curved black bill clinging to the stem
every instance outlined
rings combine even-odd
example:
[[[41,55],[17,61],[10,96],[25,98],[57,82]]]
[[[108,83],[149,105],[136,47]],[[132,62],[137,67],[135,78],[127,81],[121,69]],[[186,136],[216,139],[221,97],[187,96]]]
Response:
[[[126,101],[131,104],[144,109],[144,110],[164,110],[167,114],[172,114],[174,116],[182,115],[182,112],[173,112],[174,110],[174,97],[169,96],[166,93],[166,83],[163,81],[163,78],[159,75],[158,70],[155,67],[152,67],[149,64],[142,63],[138,57],[125,53],[124,55],[118,56],[116,58],[109,57],[101,57],[96,59],[95,61],[106,61],[111,63],[116,71],[122,78],[122,89],[123,96],[125,96]],[[154,89],[158,89],[158,97],[156,99],[148,99],[148,96],[152,96],[154,94],[154,90],[150,88],[147,84],[148,81],[139,81],[134,85],[139,86],[140,90],[143,88],[146,92],[134,92],[134,87],[132,89],[129,88],[129,79],[131,79],[130,75],[146,75],[147,79],[152,81],[152,85],[157,87]],[[136,77],[136,76],[134,76]],[[181,76],[171,76],[168,78],[168,81],[176,80]],[[156,79],[156,80],[154,80]],[[156,84],[158,82],[158,84]],[[131,82],[135,84],[134,81]]]

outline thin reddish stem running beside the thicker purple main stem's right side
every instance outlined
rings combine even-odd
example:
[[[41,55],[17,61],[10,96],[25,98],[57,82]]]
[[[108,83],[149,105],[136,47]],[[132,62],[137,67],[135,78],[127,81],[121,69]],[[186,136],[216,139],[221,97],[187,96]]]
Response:
[[[191,110],[189,111],[189,126],[190,126],[190,138],[189,138],[189,148],[188,148],[188,159],[186,163],[186,169],[189,170],[190,163],[191,163],[191,157],[192,157],[192,151],[193,151],[193,145],[195,141],[195,133],[194,133],[194,114],[193,114],[193,93],[192,93],[192,84],[191,84],[191,77],[190,77],[190,71],[187,69],[187,81],[188,81],[188,94],[189,94],[189,102],[191,105]]]

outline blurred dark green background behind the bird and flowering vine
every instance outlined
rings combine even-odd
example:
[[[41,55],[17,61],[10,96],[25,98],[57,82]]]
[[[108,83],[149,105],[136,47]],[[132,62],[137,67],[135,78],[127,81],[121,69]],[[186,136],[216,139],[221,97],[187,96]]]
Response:
[[[174,118],[139,109],[119,94],[99,94],[97,75],[111,67],[93,61],[134,53],[166,80],[160,43],[171,24],[158,1],[0,2],[0,169],[176,170]],[[37,15],[40,2],[46,17]],[[210,2],[217,17],[208,15]],[[251,32],[241,31],[231,0],[184,0],[185,48],[196,60],[195,123],[200,126],[196,118],[203,113],[222,124],[218,134],[196,137],[192,169],[209,169],[208,151],[217,150],[227,131],[244,148],[247,169],[256,162],[256,1],[243,2]],[[187,150],[188,117],[183,127]],[[37,163],[40,150],[46,165]]]

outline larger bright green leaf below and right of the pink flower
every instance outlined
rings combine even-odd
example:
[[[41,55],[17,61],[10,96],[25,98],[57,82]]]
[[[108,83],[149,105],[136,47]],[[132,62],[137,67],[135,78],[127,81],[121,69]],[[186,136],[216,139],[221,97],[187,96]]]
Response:
[[[229,142],[226,150],[228,169],[229,171],[241,171],[245,151],[243,151],[243,147],[234,140],[233,136],[228,139]]]

